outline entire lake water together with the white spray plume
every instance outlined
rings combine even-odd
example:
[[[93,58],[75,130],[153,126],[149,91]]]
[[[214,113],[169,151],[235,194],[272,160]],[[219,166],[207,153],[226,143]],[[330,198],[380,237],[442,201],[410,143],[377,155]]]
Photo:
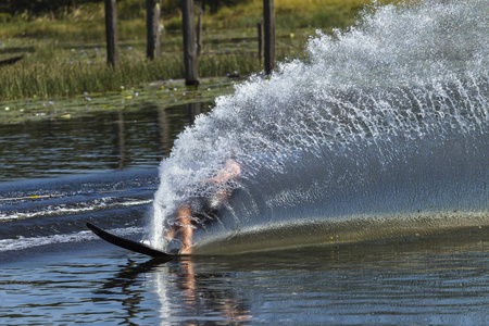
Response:
[[[488,8],[367,11],[197,120],[143,99],[2,125],[0,324],[487,325]],[[86,227],[171,248],[228,158],[237,191],[191,258]]]

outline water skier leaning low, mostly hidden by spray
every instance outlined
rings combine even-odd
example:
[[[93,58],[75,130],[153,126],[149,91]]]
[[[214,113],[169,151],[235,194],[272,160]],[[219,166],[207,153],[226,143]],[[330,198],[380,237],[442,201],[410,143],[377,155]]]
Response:
[[[205,195],[190,197],[178,205],[175,211],[175,222],[166,237],[181,240],[180,254],[192,253],[193,229],[209,224],[216,218],[222,206],[228,201],[237,188],[236,180],[241,175],[241,166],[228,159],[217,174],[199,183],[199,189]]]

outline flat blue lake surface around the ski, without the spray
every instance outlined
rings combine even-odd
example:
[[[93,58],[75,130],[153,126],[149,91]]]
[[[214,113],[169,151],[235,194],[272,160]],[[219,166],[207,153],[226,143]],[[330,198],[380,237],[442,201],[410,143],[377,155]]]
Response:
[[[86,222],[136,240],[148,231],[156,163],[167,153],[158,112],[126,116],[126,135],[139,141],[126,136],[124,155],[104,114],[9,129],[35,136],[2,170],[3,325],[486,324],[487,227],[168,263],[97,239]],[[170,112],[180,126],[190,121],[186,106]],[[47,155],[50,139],[66,143]]]

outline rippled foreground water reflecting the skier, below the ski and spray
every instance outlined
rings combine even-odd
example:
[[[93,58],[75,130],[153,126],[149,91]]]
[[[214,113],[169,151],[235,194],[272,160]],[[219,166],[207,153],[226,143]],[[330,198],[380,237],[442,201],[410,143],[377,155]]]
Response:
[[[106,246],[51,253],[2,266],[0,321],[481,325],[487,236],[481,229],[170,263]]]

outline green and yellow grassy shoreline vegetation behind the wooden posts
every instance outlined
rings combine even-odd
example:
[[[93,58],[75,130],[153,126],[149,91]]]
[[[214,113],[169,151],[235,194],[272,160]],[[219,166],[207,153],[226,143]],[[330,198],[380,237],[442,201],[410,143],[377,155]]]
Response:
[[[1,13],[0,61],[22,59],[0,66],[0,111],[14,110],[21,102],[46,104],[54,99],[75,98],[87,101],[87,95],[121,93],[121,89],[137,92],[151,82],[181,78],[181,16],[175,2],[178,1],[162,1],[162,55],[151,61],[146,58],[145,1],[117,1],[121,64],[116,67],[106,64],[103,1],[38,14]],[[234,2],[238,4],[204,5],[201,78],[218,79],[222,84],[223,79],[216,76],[243,78],[263,70],[256,27],[262,21],[263,1]],[[275,0],[277,61],[303,58],[306,40],[316,29],[330,33],[333,28],[351,26],[359,11],[372,1],[306,2],[308,5],[304,0]],[[208,79],[208,84],[210,80],[213,79]],[[0,123],[8,122],[9,118],[0,118]]]

